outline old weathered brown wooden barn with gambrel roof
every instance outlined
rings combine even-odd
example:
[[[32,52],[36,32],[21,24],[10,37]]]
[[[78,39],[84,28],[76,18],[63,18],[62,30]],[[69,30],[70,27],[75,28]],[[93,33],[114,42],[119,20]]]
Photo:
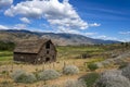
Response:
[[[56,49],[50,39],[24,40],[14,49],[14,61],[41,64],[56,61]]]

